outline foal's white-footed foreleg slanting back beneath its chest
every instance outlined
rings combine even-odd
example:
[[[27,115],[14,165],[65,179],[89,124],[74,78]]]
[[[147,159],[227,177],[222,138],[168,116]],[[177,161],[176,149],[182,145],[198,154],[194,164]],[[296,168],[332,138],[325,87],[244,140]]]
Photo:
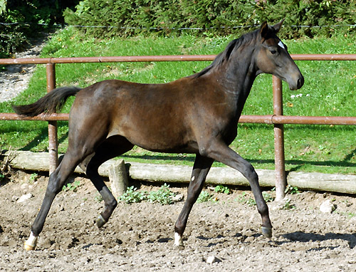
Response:
[[[209,172],[211,164],[214,162],[214,159],[208,157],[201,157],[197,154],[195,158],[192,178],[188,187],[187,200],[184,203],[183,209],[179,214],[177,222],[174,226],[174,246],[183,246],[183,232],[187,226],[188,216],[194,203],[197,201],[201,189],[203,189],[206,175]]]

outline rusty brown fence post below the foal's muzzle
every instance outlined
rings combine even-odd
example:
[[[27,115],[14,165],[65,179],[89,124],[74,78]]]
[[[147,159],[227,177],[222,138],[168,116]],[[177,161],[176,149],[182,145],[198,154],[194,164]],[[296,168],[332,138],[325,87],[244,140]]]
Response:
[[[273,114],[283,115],[282,80],[273,75]],[[283,124],[274,124],[274,159],[276,172],[276,201],[286,196]]]

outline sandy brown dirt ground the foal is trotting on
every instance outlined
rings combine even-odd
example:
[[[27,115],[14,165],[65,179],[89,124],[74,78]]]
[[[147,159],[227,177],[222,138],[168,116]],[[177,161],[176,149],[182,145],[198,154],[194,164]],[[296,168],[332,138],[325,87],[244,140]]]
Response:
[[[266,239],[256,206],[241,201],[251,192],[215,193],[219,201],[194,205],[179,249],[172,238],[184,202],[120,203],[99,230],[93,221],[103,202],[83,177],[76,192],[58,194],[36,250],[24,251],[47,184],[30,177],[16,172],[0,187],[0,271],[356,271],[355,197],[301,192],[288,205],[268,203],[273,237]],[[32,197],[19,203],[23,194]],[[319,209],[328,199],[332,214]]]

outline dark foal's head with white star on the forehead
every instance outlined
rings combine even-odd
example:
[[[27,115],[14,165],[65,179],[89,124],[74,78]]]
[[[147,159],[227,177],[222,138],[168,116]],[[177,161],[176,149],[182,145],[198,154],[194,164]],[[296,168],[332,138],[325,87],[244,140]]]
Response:
[[[287,46],[276,36],[283,20],[275,26],[261,25],[261,45],[258,47],[256,65],[258,73],[270,73],[285,80],[290,90],[297,90],[304,84],[303,75],[290,57]]]

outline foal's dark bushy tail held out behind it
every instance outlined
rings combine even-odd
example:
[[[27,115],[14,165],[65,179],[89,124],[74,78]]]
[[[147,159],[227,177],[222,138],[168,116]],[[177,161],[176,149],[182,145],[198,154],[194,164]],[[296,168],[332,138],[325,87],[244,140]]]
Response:
[[[40,98],[35,103],[29,105],[13,105],[12,108],[18,115],[25,115],[28,117],[33,117],[41,113],[55,113],[61,110],[66,100],[72,96],[76,95],[81,88],[78,87],[62,87],[52,90],[47,95]]]

